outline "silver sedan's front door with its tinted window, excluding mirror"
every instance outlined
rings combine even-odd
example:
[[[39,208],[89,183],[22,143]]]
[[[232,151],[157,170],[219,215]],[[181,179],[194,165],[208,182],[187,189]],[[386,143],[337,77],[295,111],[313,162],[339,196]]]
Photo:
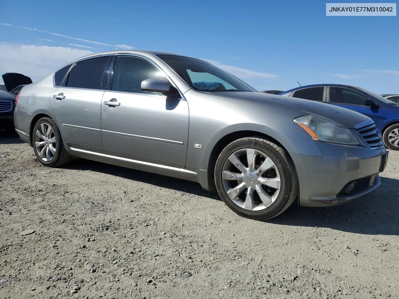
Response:
[[[103,152],[184,168],[188,104],[186,100],[143,92],[141,82],[155,77],[162,77],[161,72],[146,59],[117,57],[111,90],[105,91],[101,104]]]

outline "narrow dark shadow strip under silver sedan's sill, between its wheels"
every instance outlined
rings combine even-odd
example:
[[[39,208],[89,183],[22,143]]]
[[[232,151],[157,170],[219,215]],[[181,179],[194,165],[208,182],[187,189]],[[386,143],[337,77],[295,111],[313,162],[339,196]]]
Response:
[[[66,167],[67,169],[78,169],[78,170],[91,170],[100,173],[106,173],[109,175],[115,175],[130,179],[132,181],[139,181],[142,183],[159,186],[162,188],[172,189],[181,191],[184,193],[190,193],[193,195],[199,195],[221,201],[217,193],[209,192],[201,188],[201,185],[196,182],[186,181],[183,179],[176,179],[174,177],[168,177],[166,175],[159,175],[156,173],[150,173],[146,171],[140,171],[130,169],[126,167],[105,164],[97,161],[91,161],[86,159],[73,160]]]

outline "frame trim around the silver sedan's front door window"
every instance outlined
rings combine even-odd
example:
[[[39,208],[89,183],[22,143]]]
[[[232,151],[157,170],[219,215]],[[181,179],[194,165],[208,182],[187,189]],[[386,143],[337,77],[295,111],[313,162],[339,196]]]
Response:
[[[157,97],[157,98],[166,98],[165,95],[159,95],[156,93],[150,93],[150,92],[146,92],[146,93],[141,93],[141,92],[128,92],[128,91],[119,91],[119,90],[111,90],[112,88],[112,79],[114,76],[114,70],[115,70],[115,62],[117,61],[118,56],[132,56],[132,57],[136,57],[136,58],[141,58],[144,59],[145,61],[147,61],[148,63],[150,63],[152,66],[154,66],[156,69],[158,69],[158,71],[160,71],[162,74],[165,75],[166,79],[168,80],[168,82],[174,87],[176,88],[176,90],[178,90],[180,98],[176,99],[176,100],[186,100],[186,98],[184,97],[183,93],[180,91],[180,89],[178,89],[177,85],[173,82],[173,80],[168,76],[168,74],[166,74],[166,72],[159,66],[157,65],[154,61],[152,61],[151,59],[149,59],[148,57],[145,57],[143,55],[140,54],[132,54],[132,53],[115,53],[113,59],[111,59],[110,65],[109,65],[109,69],[108,71],[106,71],[105,73],[107,73],[107,85],[106,85],[106,89],[105,91],[107,92],[119,92],[119,93],[125,93],[125,94],[135,94],[135,95],[144,95],[144,96],[153,96],[153,97]]]

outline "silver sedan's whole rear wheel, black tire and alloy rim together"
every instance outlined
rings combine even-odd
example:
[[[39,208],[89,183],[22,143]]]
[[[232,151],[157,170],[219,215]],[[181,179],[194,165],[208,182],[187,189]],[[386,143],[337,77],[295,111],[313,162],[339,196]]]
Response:
[[[48,131],[48,128],[51,130]],[[60,167],[72,160],[72,156],[65,150],[57,124],[49,117],[42,117],[36,122],[32,145],[36,157],[45,166]]]

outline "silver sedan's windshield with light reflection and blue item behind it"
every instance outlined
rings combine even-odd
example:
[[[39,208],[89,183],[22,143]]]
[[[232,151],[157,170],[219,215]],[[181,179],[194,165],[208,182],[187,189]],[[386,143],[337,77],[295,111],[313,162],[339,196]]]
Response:
[[[256,92],[240,79],[209,62],[174,55],[158,55],[158,57],[196,90]]]

